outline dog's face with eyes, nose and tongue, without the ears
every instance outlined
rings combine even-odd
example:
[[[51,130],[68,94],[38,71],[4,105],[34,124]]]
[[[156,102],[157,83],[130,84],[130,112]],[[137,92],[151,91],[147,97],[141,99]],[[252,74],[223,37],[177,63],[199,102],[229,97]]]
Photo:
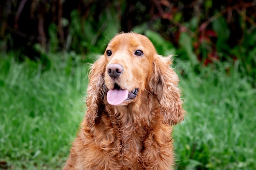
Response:
[[[119,34],[108,44],[105,84],[112,105],[126,105],[144,91],[152,72],[155,47],[144,35]]]

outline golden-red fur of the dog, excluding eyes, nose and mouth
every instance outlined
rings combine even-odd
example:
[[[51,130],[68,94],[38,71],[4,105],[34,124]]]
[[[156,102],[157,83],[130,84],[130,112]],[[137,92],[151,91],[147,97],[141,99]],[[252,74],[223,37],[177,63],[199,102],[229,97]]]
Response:
[[[63,170],[172,169],[172,126],[184,119],[184,110],[170,59],[157,55],[144,35],[121,33],[110,41],[91,67],[87,113]],[[110,64],[124,68],[116,79],[108,75]],[[137,96],[108,104],[106,94],[115,84],[129,92],[138,88]]]

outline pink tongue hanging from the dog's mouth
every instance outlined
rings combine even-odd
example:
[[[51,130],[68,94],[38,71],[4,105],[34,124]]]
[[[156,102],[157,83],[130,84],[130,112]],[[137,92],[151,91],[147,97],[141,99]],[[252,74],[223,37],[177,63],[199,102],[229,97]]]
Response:
[[[108,103],[111,105],[119,105],[128,98],[128,90],[110,90],[107,93]]]

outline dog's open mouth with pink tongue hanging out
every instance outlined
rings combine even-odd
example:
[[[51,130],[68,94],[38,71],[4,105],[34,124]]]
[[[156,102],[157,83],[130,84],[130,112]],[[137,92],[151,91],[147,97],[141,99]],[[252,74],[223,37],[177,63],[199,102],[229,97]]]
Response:
[[[139,88],[135,88],[132,91],[122,89],[118,84],[115,84],[114,89],[108,91],[107,100],[111,105],[119,105],[126,100],[134,99],[139,92]]]

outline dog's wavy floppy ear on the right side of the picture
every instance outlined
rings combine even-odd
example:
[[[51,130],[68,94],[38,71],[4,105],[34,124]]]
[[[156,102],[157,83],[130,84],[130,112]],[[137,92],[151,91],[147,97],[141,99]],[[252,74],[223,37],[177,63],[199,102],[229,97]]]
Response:
[[[177,87],[179,78],[170,67],[171,55],[162,57],[156,55],[153,61],[153,76],[150,88],[160,104],[160,113],[164,115],[163,123],[177,124],[184,119],[180,89]]]

